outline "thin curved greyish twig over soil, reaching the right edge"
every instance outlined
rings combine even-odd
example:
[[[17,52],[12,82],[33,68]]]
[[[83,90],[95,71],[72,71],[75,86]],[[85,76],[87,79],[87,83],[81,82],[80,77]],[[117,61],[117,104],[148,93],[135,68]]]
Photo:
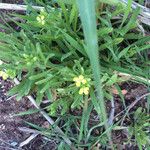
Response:
[[[121,125],[123,125],[123,122],[124,122],[124,120],[125,120],[125,118],[126,118],[128,112],[129,112],[142,98],[144,98],[144,97],[146,97],[146,96],[149,96],[149,95],[150,95],[150,93],[146,93],[146,94],[142,95],[141,97],[139,97],[138,99],[136,99],[132,104],[129,105],[129,107],[128,107],[127,111],[126,111],[126,114],[125,114],[125,115],[123,116],[123,118],[122,118]]]

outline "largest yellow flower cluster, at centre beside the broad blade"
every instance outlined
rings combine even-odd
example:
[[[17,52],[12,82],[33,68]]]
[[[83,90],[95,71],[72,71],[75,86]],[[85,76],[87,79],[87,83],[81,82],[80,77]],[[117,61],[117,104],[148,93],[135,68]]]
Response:
[[[89,90],[90,90],[89,81],[90,80],[91,79],[85,78],[83,75],[73,78],[73,81],[75,82],[76,87],[80,87],[80,90],[79,90],[80,95],[82,95],[82,94],[88,95],[89,94]]]

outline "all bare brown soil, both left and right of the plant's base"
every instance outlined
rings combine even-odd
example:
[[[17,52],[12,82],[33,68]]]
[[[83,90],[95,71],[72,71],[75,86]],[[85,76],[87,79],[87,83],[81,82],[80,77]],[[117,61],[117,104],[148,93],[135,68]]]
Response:
[[[19,127],[29,127],[25,121],[32,122],[34,124],[43,126],[46,124],[46,120],[39,114],[33,114],[28,116],[17,116],[19,112],[24,112],[29,109],[34,109],[30,101],[26,98],[21,101],[17,101],[15,97],[8,97],[7,91],[13,86],[13,82],[10,80],[3,81],[0,78],[0,150],[9,150],[10,148],[18,149],[18,146],[21,142],[25,141],[31,134],[27,132],[22,132],[19,130]],[[145,86],[140,84],[135,84],[132,82],[125,83],[122,85],[123,89],[126,89],[128,93],[125,95],[126,105],[129,106],[136,98],[147,93]],[[115,115],[123,110],[123,106],[120,103],[120,98],[115,96]],[[137,107],[145,107],[146,103],[141,100],[132,111],[137,109]],[[107,105],[108,110],[110,110],[110,104]],[[126,121],[125,124],[128,124],[129,121]],[[98,132],[98,131],[95,131]],[[114,133],[114,143],[123,144],[123,139],[127,138],[126,134],[123,132]],[[20,150],[52,150],[55,149],[55,141],[48,141],[42,136],[37,136],[32,141],[29,142],[26,146],[20,148]],[[36,145],[36,148],[35,148]],[[119,144],[118,144],[119,146]],[[122,147],[122,146],[121,146]],[[122,147],[123,148],[123,147]],[[128,145],[125,146],[125,149],[136,150],[136,147]]]

